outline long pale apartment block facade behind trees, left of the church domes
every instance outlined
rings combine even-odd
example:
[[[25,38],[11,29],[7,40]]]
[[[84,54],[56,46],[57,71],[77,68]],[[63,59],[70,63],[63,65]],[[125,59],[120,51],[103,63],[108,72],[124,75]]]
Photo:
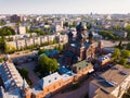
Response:
[[[20,38],[14,39],[13,41],[6,41],[6,44],[14,46],[17,50],[22,50],[28,48],[30,46],[42,46],[44,42],[50,42],[56,40],[57,42],[67,42],[66,35],[49,35],[49,36],[40,36],[40,37],[31,37],[31,38]]]

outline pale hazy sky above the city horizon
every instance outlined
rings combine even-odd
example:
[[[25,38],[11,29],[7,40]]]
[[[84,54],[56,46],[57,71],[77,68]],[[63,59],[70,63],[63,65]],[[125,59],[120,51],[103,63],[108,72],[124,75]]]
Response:
[[[130,13],[130,0],[0,0],[0,14]]]

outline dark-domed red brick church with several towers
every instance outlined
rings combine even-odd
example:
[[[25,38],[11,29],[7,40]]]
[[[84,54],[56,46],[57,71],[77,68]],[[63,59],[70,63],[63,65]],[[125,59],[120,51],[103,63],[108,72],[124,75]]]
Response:
[[[86,27],[81,22],[76,26],[76,37],[74,37],[72,32],[68,33],[68,42],[65,46],[64,57],[67,65],[82,60],[91,62],[94,59],[95,46],[93,44],[93,34],[87,34]]]

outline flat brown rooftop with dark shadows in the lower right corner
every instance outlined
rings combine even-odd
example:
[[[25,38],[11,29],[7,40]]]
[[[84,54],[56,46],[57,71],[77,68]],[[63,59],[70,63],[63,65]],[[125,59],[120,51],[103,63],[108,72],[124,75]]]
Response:
[[[110,94],[118,85],[120,85],[130,75],[130,70],[121,65],[115,65],[91,83]],[[98,94],[99,95],[99,94]]]

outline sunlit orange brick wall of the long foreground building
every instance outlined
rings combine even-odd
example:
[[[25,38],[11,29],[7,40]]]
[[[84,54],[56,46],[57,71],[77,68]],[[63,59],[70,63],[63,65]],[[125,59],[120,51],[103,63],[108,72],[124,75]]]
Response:
[[[53,94],[60,91],[61,89],[66,88],[67,86],[72,85],[73,82],[80,81],[81,78],[83,78],[84,75],[88,74],[88,72],[91,69],[93,69],[93,68],[91,68],[91,66],[86,68],[86,69],[83,69],[83,71],[77,73],[76,75],[72,76],[70,78],[67,78],[67,79],[63,79],[62,78],[62,79],[57,81],[56,83],[53,83],[53,84],[44,87],[43,88],[43,93],[42,94],[40,93],[40,94],[37,94],[37,95],[34,94],[35,95],[34,98],[43,98],[48,94],[52,94],[53,95]]]

